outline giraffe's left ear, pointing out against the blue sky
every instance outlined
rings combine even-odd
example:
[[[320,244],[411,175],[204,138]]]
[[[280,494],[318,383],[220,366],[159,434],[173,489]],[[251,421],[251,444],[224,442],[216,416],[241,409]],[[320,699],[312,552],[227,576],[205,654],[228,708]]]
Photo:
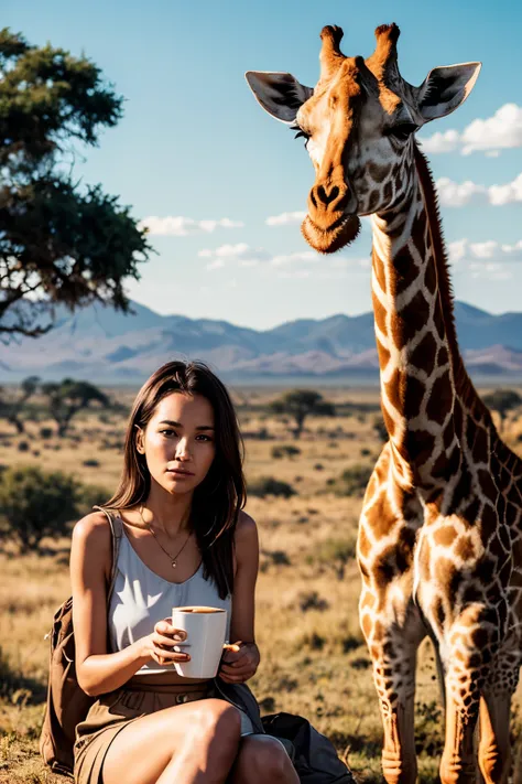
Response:
[[[301,106],[314,95],[312,87],[300,84],[292,74],[247,71],[244,76],[263,109],[289,125],[295,121]]]

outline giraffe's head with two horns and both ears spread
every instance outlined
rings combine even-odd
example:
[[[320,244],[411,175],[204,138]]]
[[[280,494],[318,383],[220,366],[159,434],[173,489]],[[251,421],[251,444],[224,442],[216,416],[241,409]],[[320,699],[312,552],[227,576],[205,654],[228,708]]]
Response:
[[[315,88],[286,73],[246,76],[263,109],[306,139],[316,179],[302,230],[327,254],[357,237],[360,215],[385,212],[406,196],[415,131],[467,98],[480,63],[433,68],[414,87],[399,72],[395,24],[376,30],[376,51],[367,60],[341,53],[340,28],[326,26],[320,37]]]

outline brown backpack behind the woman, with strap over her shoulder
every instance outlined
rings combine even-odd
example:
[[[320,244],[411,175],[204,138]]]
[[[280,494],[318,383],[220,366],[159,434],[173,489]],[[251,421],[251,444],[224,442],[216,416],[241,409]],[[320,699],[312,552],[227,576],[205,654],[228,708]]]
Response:
[[[100,509],[95,506],[95,509]],[[121,520],[106,509],[112,535],[112,567],[107,604],[115,588],[118,552],[121,540]],[[78,685],[75,665],[73,629],[73,597],[55,612],[53,625],[44,640],[51,638],[47,701],[40,735],[40,753],[53,773],[74,777],[74,743],[76,724],[87,717],[96,697],[89,697]]]

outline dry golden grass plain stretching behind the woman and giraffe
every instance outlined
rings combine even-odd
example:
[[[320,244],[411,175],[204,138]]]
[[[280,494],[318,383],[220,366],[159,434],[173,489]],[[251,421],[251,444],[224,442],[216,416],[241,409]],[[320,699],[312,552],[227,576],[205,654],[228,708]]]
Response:
[[[358,782],[380,782],[381,724],[357,616],[360,580],[355,561],[365,469],[371,469],[382,448],[374,427],[380,419],[378,389],[320,390],[335,404],[337,416],[307,418],[300,439],[292,434],[291,418],[267,409],[282,390],[230,389],[244,436],[248,482],[254,488],[261,477],[274,477],[295,493],[250,495],[246,507],[258,523],[261,546],[255,620],[261,665],[249,686],[262,713],[305,716],[330,738]],[[134,394],[105,391],[122,407],[130,406]],[[22,434],[0,421],[0,463],[73,473],[90,486],[90,503],[104,502],[119,477],[124,425],[123,408],[86,410],[75,417],[64,438],[54,434],[55,423],[42,415],[39,421],[26,421]],[[42,439],[42,428],[53,428],[53,434]],[[502,434],[522,454],[522,409],[510,412]],[[21,442],[26,445],[20,448]],[[291,454],[285,447],[298,452]],[[350,469],[356,469],[349,473],[352,479],[342,481]],[[70,593],[68,556],[68,536],[44,539],[40,554],[21,555],[8,540],[1,547],[1,784],[65,781],[43,765],[37,742],[48,666],[44,635]],[[516,749],[522,743],[521,696],[519,689],[512,730]],[[416,692],[424,784],[438,781],[442,727],[433,651],[426,640],[418,656]]]

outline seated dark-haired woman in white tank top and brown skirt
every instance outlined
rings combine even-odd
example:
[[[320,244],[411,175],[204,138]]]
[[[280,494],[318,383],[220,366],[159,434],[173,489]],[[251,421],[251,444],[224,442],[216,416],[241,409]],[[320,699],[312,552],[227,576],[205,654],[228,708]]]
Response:
[[[202,363],[168,363],[138,394],[120,485],[105,506],[123,528],[108,608],[106,513],[73,533],[76,674],[98,698],[76,728],[77,784],[298,784],[278,740],[253,733],[213,680],[187,685],[174,668],[189,647],[166,616],[187,604],[229,610],[236,643],[222,683],[244,683],[259,665],[259,545],[242,512],[240,442],[228,393]]]

